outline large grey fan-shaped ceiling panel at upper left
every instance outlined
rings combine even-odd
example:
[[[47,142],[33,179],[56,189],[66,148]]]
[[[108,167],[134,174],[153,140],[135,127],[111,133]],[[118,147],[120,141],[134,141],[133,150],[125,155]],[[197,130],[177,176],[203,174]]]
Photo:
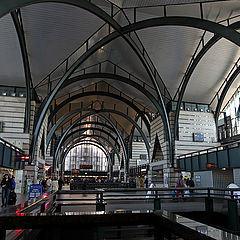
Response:
[[[34,85],[103,24],[85,10],[58,3],[24,7],[22,17]]]

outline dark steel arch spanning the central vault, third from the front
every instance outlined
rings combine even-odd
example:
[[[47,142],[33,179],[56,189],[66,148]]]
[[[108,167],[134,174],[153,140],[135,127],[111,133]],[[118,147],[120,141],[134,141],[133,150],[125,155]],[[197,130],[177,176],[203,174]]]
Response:
[[[147,120],[147,118],[145,117],[144,113],[131,101],[127,100],[126,98],[123,98],[119,95],[113,94],[113,93],[108,93],[108,92],[103,92],[103,91],[96,91],[96,92],[83,92],[83,93],[79,93],[76,95],[71,96],[70,98],[67,98],[66,100],[64,100],[63,102],[61,102],[59,105],[57,105],[57,107],[51,112],[51,114],[48,117],[48,121],[50,122],[54,115],[67,103],[78,99],[78,98],[82,98],[82,97],[86,97],[86,96],[92,96],[92,95],[100,95],[100,96],[107,96],[107,97],[111,97],[114,99],[118,99],[124,103],[126,103],[127,105],[129,105],[132,109],[134,109],[143,119],[148,131],[150,132],[150,124],[149,121]]]

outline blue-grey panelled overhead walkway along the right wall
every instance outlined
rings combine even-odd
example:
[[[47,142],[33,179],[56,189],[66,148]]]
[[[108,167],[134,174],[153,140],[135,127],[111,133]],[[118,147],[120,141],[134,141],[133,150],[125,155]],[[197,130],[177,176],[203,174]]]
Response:
[[[222,168],[238,168],[240,141],[177,157],[177,166],[182,171],[203,171]]]

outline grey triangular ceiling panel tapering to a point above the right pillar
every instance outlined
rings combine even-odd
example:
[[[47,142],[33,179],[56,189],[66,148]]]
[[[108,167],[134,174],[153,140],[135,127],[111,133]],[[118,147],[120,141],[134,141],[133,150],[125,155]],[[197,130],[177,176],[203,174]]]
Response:
[[[200,38],[201,30],[186,27],[154,27],[138,31],[155,67],[173,96]]]

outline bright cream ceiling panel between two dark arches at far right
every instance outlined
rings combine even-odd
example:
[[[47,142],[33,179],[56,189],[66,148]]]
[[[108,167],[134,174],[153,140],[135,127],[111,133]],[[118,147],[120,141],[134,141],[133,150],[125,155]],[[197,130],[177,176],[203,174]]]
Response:
[[[198,64],[184,100],[209,103],[239,56],[239,47],[225,39],[220,40]]]

